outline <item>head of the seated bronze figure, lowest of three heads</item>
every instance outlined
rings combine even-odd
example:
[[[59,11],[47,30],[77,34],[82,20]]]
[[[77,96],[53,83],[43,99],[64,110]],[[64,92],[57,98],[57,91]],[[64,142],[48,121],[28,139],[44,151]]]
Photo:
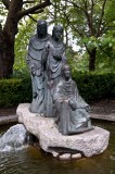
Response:
[[[67,64],[62,67],[62,75],[67,80],[71,78],[71,69]]]

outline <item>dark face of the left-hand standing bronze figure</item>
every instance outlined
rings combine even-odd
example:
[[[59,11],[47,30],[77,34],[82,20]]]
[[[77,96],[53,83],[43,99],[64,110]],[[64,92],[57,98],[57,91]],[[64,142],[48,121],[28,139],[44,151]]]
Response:
[[[46,23],[39,23],[38,25],[37,25],[37,33],[38,33],[38,36],[39,35],[46,35],[47,34],[47,24]]]

